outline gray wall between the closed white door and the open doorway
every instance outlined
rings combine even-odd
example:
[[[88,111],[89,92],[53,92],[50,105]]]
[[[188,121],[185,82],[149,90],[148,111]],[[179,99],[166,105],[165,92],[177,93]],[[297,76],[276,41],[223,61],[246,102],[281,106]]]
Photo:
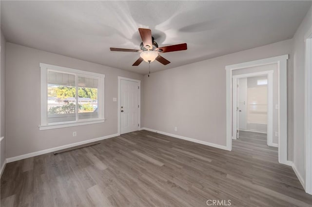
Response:
[[[225,146],[225,66],[291,51],[292,39],[289,39],[159,71],[150,77],[145,75],[143,126]],[[288,64],[288,68],[292,69],[292,64]]]

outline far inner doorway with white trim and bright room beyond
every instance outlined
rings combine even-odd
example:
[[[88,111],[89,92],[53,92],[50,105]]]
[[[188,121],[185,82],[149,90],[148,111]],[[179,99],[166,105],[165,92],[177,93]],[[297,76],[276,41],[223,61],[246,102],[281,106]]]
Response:
[[[268,69],[272,67],[274,65]],[[278,147],[277,113],[273,118],[273,110],[277,110],[279,105],[278,97],[273,99],[273,91],[277,96],[275,85],[273,90],[273,70],[233,75],[233,139],[239,138],[240,131],[265,133],[267,145]]]

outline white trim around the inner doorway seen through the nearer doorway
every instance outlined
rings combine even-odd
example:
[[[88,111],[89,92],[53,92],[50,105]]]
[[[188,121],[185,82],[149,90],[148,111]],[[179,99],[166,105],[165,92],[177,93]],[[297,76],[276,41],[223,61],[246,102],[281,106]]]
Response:
[[[239,78],[249,78],[249,77],[257,77],[261,75],[267,75],[268,77],[268,122],[267,122],[267,145],[278,147],[278,144],[273,143],[273,70],[266,70],[260,72],[253,73],[245,73],[240,75],[233,75],[232,81],[233,86],[237,85],[237,79]],[[233,90],[233,108],[232,111],[237,107],[237,87],[234,87]],[[233,113],[233,131],[232,131],[232,139],[236,139],[236,130],[237,130],[237,114]]]

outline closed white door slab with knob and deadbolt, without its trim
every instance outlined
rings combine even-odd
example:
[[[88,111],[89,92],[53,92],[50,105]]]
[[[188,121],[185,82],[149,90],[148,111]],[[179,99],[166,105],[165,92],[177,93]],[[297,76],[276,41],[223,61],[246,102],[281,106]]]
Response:
[[[121,80],[120,82],[120,133],[138,130],[138,83]]]

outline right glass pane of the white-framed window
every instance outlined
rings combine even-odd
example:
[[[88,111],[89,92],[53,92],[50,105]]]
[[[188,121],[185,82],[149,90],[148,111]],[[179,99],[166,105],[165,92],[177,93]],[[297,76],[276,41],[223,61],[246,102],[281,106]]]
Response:
[[[98,79],[78,77],[78,119],[98,118]]]

